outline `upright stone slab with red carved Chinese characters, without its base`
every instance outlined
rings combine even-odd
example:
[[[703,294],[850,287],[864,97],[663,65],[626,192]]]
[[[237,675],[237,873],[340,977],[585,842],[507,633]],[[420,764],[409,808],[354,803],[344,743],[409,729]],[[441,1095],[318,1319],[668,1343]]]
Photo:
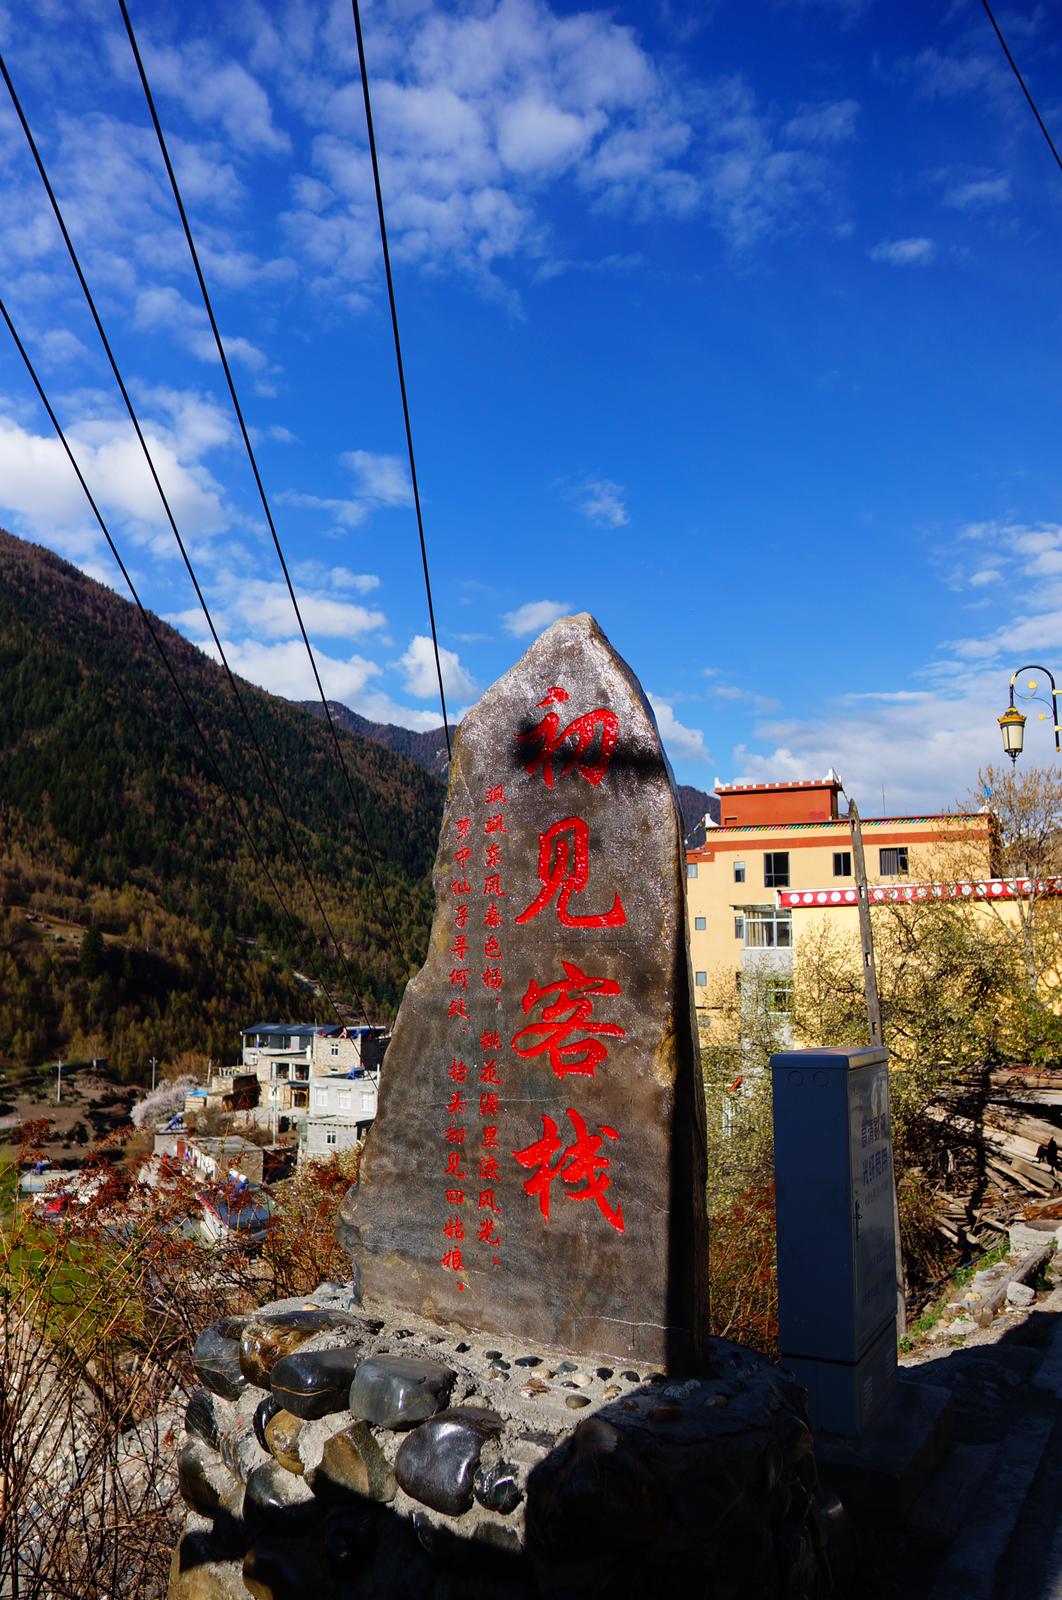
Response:
[[[696,1370],[681,822],[649,704],[592,618],[553,624],[464,718],[435,902],[339,1224],[363,1302]]]

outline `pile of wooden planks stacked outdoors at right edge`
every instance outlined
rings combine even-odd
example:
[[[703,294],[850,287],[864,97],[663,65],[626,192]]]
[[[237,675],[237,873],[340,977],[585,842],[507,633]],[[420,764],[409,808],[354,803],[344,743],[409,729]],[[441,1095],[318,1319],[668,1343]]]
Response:
[[[1062,1072],[1001,1067],[944,1088],[926,1115],[955,1179],[937,1216],[950,1243],[985,1248],[1016,1216],[1062,1219]]]

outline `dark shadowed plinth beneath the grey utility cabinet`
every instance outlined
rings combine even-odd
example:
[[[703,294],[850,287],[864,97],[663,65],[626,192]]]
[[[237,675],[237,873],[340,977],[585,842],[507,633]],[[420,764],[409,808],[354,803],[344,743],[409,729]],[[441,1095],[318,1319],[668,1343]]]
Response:
[[[910,1512],[952,1443],[952,1392],[900,1376],[859,1438],[816,1429],[822,1478],[862,1520]]]

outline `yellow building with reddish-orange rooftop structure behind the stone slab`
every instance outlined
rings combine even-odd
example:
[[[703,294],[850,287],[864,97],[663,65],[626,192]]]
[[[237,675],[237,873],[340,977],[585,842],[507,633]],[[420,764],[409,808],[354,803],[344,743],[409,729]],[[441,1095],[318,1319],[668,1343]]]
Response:
[[[840,779],[790,784],[717,784],[720,826],[686,856],[689,949],[697,1008],[709,986],[757,973],[777,982],[785,1011],[793,954],[824,917],[859,936],[852,837],[838,814]],[[924,898],[942,880],[969,898],[992,870],[987,814],[883,816],[862,821],[872,899]],[[960,883],[961,880],[961,883]],[[996,883],[1000,880],[995,880]],[[990,894],[985,890],[980,898]]]

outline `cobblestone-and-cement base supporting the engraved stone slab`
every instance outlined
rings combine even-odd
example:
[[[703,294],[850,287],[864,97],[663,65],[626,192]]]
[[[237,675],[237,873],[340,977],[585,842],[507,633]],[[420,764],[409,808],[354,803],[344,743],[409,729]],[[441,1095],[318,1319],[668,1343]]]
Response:
[[[195,1360],[170,1600],[836,1590],[806,1397],[742,1346],[669,1378],[326,1283],[214,1323]]]

